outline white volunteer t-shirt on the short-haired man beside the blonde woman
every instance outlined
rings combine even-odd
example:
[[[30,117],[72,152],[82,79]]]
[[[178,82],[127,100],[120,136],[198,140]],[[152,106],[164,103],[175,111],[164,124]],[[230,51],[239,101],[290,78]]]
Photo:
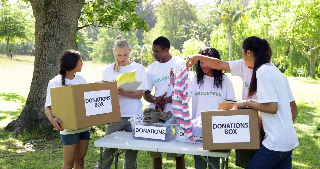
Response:
[[[160,63],[158,61],[153,62],[149,65],[147,69],[147,82],[148,82],[148,90],[152,91],[153,86],[155,86],[156,92],[154,94],[155,97],[159,97],[164,95],[165,92],[167,94],[165,97],[172,96],[172,85],[170,84],[170,69],[174,68],[175,70],[180,70],[186,67],[186,61],[172,56],[172,58],[165,62]],[[149,108],[155,108],[155,103],[150,103]],[[172,112],[172,103],[167,103],[164,107],[164,112],[171,111]]]

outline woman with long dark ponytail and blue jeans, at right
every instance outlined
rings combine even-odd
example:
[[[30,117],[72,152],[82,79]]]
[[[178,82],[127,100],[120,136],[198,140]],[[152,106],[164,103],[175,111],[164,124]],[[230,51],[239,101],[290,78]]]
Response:
[[[243,41],[242,58],[253,68],[248,98],[257,94],[257,101],[237,101],[236,109],[249,106],[259,110],[265,131],[260,149],[246,168],[291,168],[292,150],[299,145],[292,124],[291,89],[284,74],[270,62],[271,56],[266,39],[251,36]]]

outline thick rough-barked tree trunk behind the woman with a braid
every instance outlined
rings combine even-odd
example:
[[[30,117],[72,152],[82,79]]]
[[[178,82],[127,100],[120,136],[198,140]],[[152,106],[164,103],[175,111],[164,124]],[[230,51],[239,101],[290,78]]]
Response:
[[[58,74],[61,53],[77,48],[77,22],[84,3],[84,0],[29,1],[36,19],[35,63],[26,105],[20,116],[5,127],[5,130],[14,131],[15,136],[33,126],[52,129],[44,115],[47,85]]]

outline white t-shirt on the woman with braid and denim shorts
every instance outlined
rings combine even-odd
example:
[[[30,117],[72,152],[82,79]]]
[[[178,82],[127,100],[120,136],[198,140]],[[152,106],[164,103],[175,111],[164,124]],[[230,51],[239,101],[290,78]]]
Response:
[[[73,79],[65,79],[65,84],[66,85],[78,85],[78,84],[86,84],[87,81],[82,77],[81,75],[74,74],[75,78]],[[44,107],[51,106],[51,95],[50,95],[50,88],[52,87],[57,87],[61,86],[62,84],[62,76],[57,75],[53,79],[51,79],[48,83],[48,88],[47,88],[47,99],[45,101]],[[78,130],[73,130],[73,129],[65,129],[63,131],[60,131],[60,134],[75,134],[75,133],[81,133],[84,131],[89,130],[90,127],[87,128],[82,128]]]

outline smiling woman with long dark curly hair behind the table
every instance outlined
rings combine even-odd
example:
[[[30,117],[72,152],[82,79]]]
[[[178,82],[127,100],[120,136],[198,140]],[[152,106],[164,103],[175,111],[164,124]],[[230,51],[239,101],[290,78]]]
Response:
[[[219,52],[212,47],[202,48],[198,53],[220,60]],[[201,111],[218,110],[219,102],[236,98],[229,77],[224,75],[222,70],[212,69],[200,60],[196,63],[196,75],[192,76],[189,81],[189,94],[192,96],[192,119],[199,117],[200,120]],[[192,132],[198,134],[197,132],[200,133],[202,131],[196,130]],[[194,158],[196,169],[207,167],[207,162],[200,156],[194,156]],[[208,157],[208,160],[216,168],[220,168],[219,157]],[[209,165],[210,168],[212,167]]]

